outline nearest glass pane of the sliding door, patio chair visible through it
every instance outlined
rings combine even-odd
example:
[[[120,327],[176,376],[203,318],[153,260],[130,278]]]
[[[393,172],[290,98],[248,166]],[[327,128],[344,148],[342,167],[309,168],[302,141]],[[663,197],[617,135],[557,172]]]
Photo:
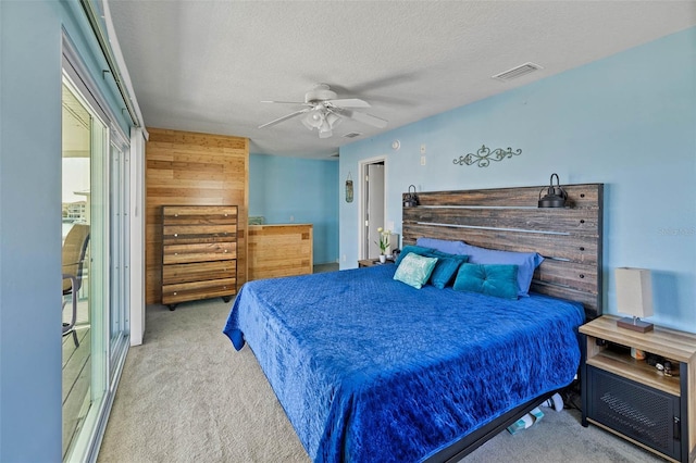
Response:
[[[103,157],[104,125],[94,116],[70,82],[62,91],[62,239],[63,239],[63,456],[84,427],[95,393],[91,381],[94,350],[100,339],[94,338],[95,297],[103,292],[102,270],[94,258],[100,253],[95,246],[95,228],[103,227],[92,190],[92,158]],[[96,201],[97,204],[100,202]],[[96,214],[95,214],[96,212]],[[101,362],[103,363],[103,362]],[[101,374],[97,375],[98,377]]]

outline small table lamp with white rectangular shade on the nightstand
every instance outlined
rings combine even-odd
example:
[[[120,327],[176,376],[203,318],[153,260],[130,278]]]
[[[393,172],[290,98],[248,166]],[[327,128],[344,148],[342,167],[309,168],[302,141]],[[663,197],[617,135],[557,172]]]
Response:
[[[646,268],[621,267],[614,271],[617,280],[617,311],[631,315],[617,321],[617,325],[638,333],[652,330],[652,324],[641,317],[652,315],[652,283]]]

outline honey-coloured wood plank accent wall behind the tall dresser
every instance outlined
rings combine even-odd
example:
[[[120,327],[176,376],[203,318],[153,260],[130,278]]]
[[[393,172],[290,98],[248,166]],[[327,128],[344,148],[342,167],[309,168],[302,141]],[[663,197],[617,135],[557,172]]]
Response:
[[[247,280],[249,140],[148,128],[146,145],[146,303],[160,303],[162,205],[238,207],[237,287]]]

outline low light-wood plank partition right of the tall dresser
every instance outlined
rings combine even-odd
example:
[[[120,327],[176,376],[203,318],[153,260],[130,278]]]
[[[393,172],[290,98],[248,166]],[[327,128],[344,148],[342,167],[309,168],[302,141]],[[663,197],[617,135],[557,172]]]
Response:
[[[312,224],[249,226],[249,280],[310,275]]]

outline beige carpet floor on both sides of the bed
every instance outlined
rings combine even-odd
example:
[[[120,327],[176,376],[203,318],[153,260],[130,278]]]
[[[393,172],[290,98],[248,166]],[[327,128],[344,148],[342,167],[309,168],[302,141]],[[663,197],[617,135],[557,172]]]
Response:
[[[148,306],[142,346],[130,348],[99,463],[309,462],[248,347],[222,334],[231,303]],[[545,416],[515,435],[502,431],[464,462],[659,462],[576,410]]]

